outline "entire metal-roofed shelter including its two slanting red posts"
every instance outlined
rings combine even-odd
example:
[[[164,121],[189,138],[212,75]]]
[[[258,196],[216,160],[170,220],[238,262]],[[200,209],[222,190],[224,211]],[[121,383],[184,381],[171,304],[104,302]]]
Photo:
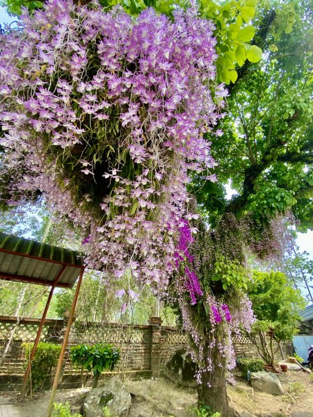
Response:
[[[0,233],[0,279],[51,286],[45,310],[42,313],[42,318],[38,327],[37,336],[33,343],[33,350],[29,358],[29,363],[24,373],[19,400],[22,400],[26,393],[27,382],[29,380],[29,375],[31,374],[31,361],[35,356],[40,341],[42,327],[47,317],[54,288],[72,288],[79,277],[74,293],[74,300],[70,309],[70,316],[67,321],[60,357],[58,359],[56,375],[54,376],[54,385],[49,400],[47,417],[51,417],[84,269],[83,260],[77,252],[64,249],[63,247],[47,245],[47,243],[36,242],[35,240]]]

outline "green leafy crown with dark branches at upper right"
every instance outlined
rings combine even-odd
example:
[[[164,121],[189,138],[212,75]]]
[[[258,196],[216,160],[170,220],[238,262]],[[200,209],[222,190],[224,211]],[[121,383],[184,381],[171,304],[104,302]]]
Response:
[[[291,211],[298,230],[312,228],[310,10],[312,1],[259,2],[253,42],[262,47],[264,59],[246,61],[238,70],[227,115],[218,126],[223,134],[212,139],[221,183],[195,177],[191,188],[212,225],[223,213],[252,213],[257,229]],[[225,198],[228,183],[236,193],[230,201]]]

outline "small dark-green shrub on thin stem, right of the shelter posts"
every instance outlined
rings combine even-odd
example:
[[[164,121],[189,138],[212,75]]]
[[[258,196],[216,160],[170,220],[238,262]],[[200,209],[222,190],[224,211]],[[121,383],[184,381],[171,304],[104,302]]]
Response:
[[[115,363],[120,359],[120,351],[113,345],[77,345],[71,347],[71,360],[74,366],[81,370],[92,370],[93,387],[97,386],[99,377],[104,370],[113,370]]]

